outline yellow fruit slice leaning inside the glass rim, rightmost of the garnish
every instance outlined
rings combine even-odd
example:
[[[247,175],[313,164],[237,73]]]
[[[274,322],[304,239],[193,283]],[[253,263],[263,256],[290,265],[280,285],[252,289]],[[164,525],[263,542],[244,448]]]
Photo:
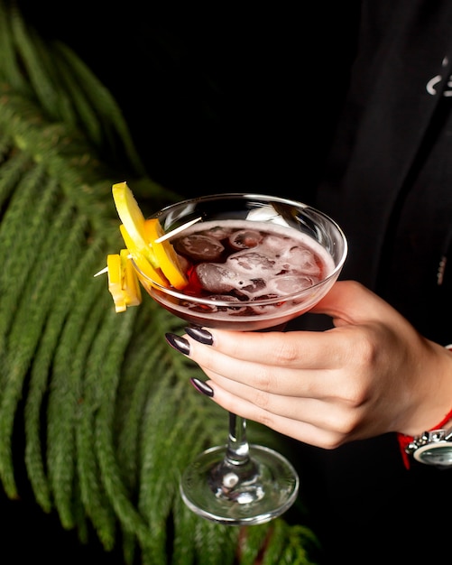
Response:
[[[174,247],[168,239],[165,239],[161,243],[155,241],[165,235],[159,220],[157,218],[145,219],[143,231],[146,240],[152,245],[152,250],[161,268],[161,272],[171,282],[174,288],[183,289],[187,286],[188,281],[182,271],[179,257],[174,251]]]

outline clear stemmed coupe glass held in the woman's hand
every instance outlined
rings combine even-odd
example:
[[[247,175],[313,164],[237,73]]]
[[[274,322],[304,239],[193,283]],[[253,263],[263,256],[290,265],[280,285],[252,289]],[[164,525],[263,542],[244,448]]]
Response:
[[[190,285],[182,291],[166,288],[134,265],[140,282],[155,301],[197,327],[281,330],[289,320],[312,308],[328,292],[346,259],[346,237],[337,223],[321,211],[294,200],[260,194],[218,194],[181,201],[161,209],[153,218],[159,218],[167,233],[191,220],[198,220],[171,238],[176,250],[178,238],[204,227],[210,230],[213,227],[217,232],[225,220],[234,220],[235,231],[240,232],[235,239],[239,246],[244,246],[244,252],[240,253],[246,257],[245,262],[243,259],[238,262],[242,263],[242,274],[238,276],[239,288],[232,292],[233,296],[221,289],[221,292],[218,289],[202,292],[199,296]],[[244,221],[244,227],[239,227],[237,221]],[[269,259],[270,264],[263,265],[260,263],[263,256],[256,253],[257,247],[253,246],[253,234],[267,229],[276,230],[279,239],[269,240],[265,263]],[[318,246],[314,270],[324,271],[318,280],[313,281],[309,273],[293,275],[290,265],[284,264],[284,254],[290,256],[287,261],[295,266],[295,271],[304,261],[303,252],[298,244],[293,245],[292,236],[301,244],[306,240]],[[250,237],[251,244],[247,242]],[[286,241],[291,242],[287,249],[284,248]],[[247,248],[247,245],[251,247]],[[283,264],[277,275],[270,258],[272,245],[276,248],[276,251],[272,250],[275,261]],[[201,245],[198,253],[202,255],[204,251],[207,249]],[[256,264],[246,264],[248,260]],[[287,272],[284,265],[288,267]],[[250,267],[250,273],[246,273]],[[221,263],[213,268],[222,272]],[[282,294],[278,291],[280,287],[284,289]],[[246,289],[251,291],[246,294]],[[246,421],[233,413],[229,414],[226,445],[207,449],[198,455],[180,481],[181,496],[193,512],[226,524],[268,522],[293,504],[298,488],[299,477],[291,463],[272,449],[249,444]]]

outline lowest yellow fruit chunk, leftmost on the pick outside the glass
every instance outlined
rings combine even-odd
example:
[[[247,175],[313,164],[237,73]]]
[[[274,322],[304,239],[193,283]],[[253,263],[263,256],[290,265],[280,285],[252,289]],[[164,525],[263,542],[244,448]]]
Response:
[[[116,312],[124,312],[128,306],[138,306],[142,301],[142,292],[138,277],[132,266],[127,249],[120,255],[107,255],[108,290],[113,296]]]

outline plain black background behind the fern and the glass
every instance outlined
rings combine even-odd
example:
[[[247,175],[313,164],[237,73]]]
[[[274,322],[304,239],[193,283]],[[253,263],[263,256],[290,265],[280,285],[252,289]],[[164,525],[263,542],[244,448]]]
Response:
[[[186,196],[313,198],[345,94],[358,2],[172,5],[171,14],[135,0],[19,5],[112,92],[153,180]],[[120,548],[106,554],[96,536],[84,547],[63,531],[34,503],[20,463],[18,472],[22,499],[0,496],[2,565],[122,562]]]

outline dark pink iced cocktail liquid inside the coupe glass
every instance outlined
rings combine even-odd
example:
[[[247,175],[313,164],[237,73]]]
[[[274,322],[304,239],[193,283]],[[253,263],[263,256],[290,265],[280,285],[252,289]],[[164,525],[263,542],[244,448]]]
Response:
[[[173,314],[210,328],[286,323],[318,301],[319,285],[335,268],[312,237],[268,222],[200,222],[171,243],[189,284],[182,292],[147,290]]]

